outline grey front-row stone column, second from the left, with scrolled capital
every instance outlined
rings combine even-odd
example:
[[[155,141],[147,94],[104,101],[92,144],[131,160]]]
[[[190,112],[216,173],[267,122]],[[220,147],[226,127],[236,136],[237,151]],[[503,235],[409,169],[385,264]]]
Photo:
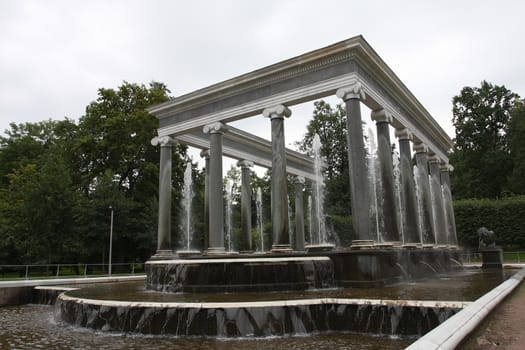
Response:
[[[209,230],[208,254],[224,254],[224,200],[222,194],[222,136],[226,128],[222,123],[206,125],[205,134],[210,134],[209,176]]]

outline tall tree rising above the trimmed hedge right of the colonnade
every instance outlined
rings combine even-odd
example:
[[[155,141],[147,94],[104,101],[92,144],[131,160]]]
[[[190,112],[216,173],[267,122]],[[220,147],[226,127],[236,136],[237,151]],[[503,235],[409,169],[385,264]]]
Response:
[[[511,112],[519,96],[486,81],[454,96],[456,128],[451,163],[456,198],[496,198],[508,190],[512,159],[507,143]]]

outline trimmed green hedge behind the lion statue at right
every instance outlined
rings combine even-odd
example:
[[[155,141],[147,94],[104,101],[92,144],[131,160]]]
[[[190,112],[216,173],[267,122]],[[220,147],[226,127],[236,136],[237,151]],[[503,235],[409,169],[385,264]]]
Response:
[[[458,241],[465,248],[478,248],[477,230],[482,226],[494,231],[497,245],[525,248],[525,196],[457,200],[454,214]]]

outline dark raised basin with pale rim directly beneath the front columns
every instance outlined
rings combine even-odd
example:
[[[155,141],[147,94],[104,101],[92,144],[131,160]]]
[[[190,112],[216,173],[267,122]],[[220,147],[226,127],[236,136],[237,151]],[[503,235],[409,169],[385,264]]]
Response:
[[[333,262],[324,256],[153,260],[146,289],[232,293],[332,288]]]

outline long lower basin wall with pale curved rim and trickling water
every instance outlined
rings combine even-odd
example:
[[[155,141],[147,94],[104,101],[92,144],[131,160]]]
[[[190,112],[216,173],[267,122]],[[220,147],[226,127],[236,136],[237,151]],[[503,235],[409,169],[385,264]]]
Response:
[[[117,332],[264,337],[322,331],[420,335],[468,303],[374,299],[256,302],[127,302],[59,296],[63,321]]]

